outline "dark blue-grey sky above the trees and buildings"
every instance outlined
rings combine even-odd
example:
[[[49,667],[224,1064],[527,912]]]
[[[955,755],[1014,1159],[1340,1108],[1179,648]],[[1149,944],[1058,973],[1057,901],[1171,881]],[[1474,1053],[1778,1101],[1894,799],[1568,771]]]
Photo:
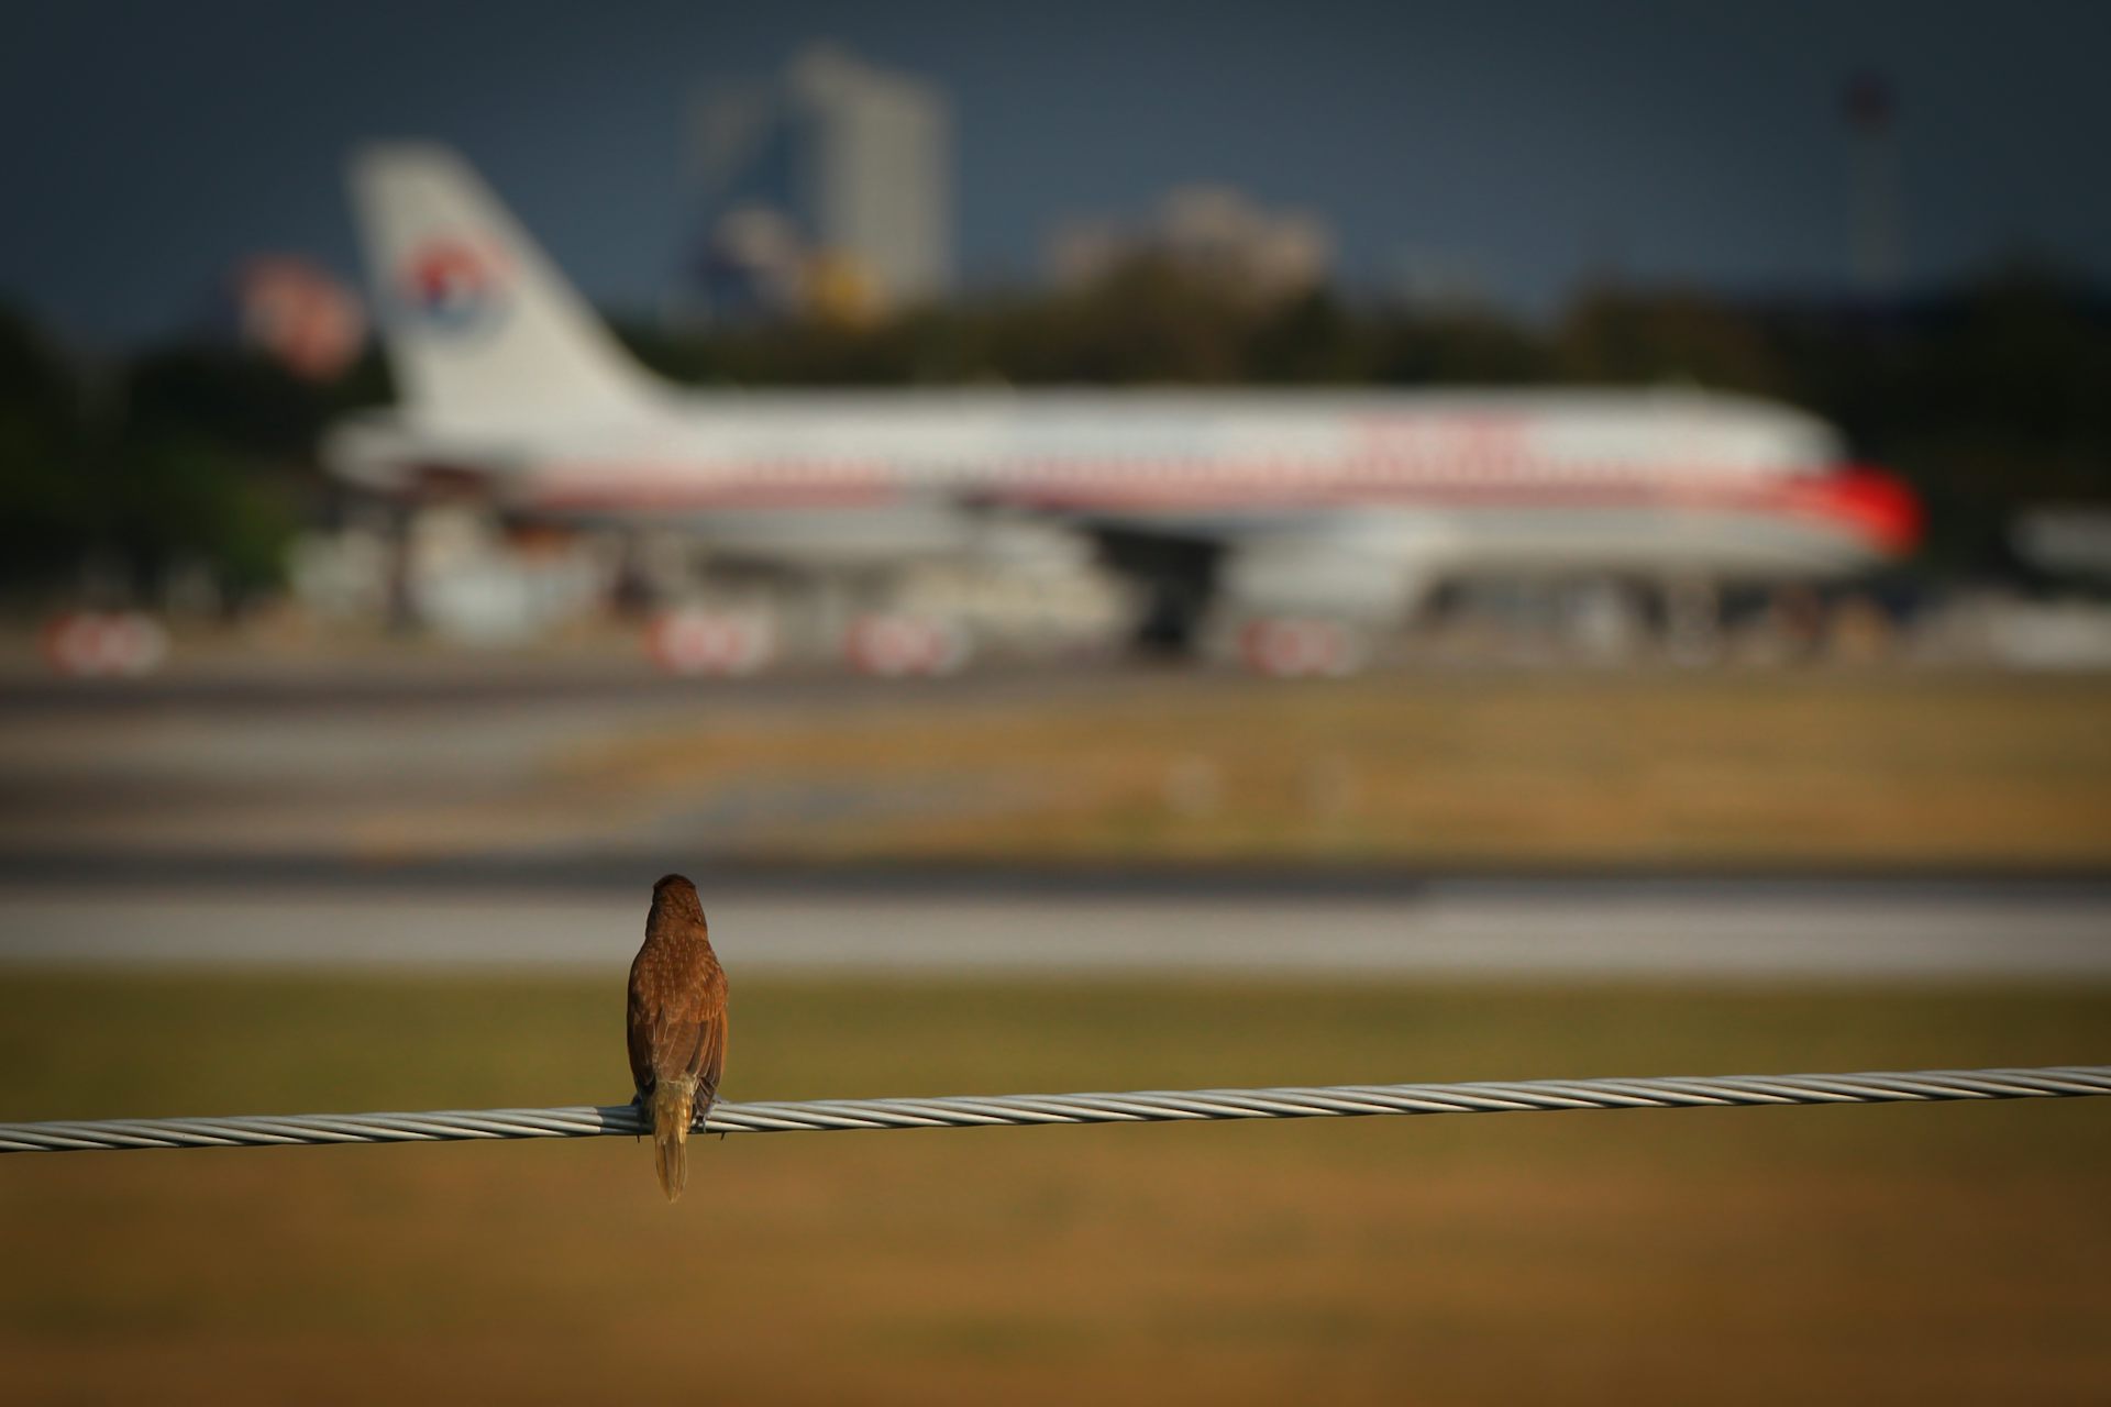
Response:
[[[948,91],[977,283],[1210,181],[1319,215],[1349,281],[1459,268],[1528,314],[1606,272],[1841,287],[1858,70],[1898,95],[1910,283],[2018,253],[2111,278],[2094,0],[46,0],[0,19],[0,300],[137,340],[207,316],[249,253],[353,274],[344,154],[429,137],[593,300],[648,312],[699,230],[699,89],[815,40]]]

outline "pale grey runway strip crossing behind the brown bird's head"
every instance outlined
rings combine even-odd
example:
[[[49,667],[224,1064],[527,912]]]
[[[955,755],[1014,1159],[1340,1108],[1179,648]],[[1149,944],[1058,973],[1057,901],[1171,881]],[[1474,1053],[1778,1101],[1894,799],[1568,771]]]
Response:
[[[635,888],[635,892],[631,892]],[[0,888],[0,962],[619,972],[644,886]],[[737,972],[2111,981],[2111,884],[705,886]]]

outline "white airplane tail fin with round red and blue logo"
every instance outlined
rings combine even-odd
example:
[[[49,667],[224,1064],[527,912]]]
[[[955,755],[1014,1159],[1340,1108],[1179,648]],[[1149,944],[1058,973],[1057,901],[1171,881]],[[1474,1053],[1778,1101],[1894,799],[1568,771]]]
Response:
[[[452,150],[363,148],[350,194],[414,413],[471,426],[650,413],[652,378]]]

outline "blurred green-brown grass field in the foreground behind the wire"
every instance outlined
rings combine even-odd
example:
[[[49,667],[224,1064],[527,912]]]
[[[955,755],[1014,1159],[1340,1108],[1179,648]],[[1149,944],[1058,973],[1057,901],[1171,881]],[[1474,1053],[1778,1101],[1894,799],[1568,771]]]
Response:
[[[627,1095],[621,977],[0,977],[0,1118]],[[747,981],[730,1097],[2111,1057],[2111,989]],[[0,1158],[0,1396],[2111,1399],[2111,1101]]]

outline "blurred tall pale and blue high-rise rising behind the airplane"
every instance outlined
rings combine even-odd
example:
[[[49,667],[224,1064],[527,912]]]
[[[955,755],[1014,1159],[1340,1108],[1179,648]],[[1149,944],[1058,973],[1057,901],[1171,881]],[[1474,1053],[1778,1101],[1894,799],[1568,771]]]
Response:
[[[699,105],[711,312],[861,314],[952,291],[952,112],[931,84],[832,44]],[[790,230],[756,240],[762,224]],[[787,268],[790,264],[790,268]]]

